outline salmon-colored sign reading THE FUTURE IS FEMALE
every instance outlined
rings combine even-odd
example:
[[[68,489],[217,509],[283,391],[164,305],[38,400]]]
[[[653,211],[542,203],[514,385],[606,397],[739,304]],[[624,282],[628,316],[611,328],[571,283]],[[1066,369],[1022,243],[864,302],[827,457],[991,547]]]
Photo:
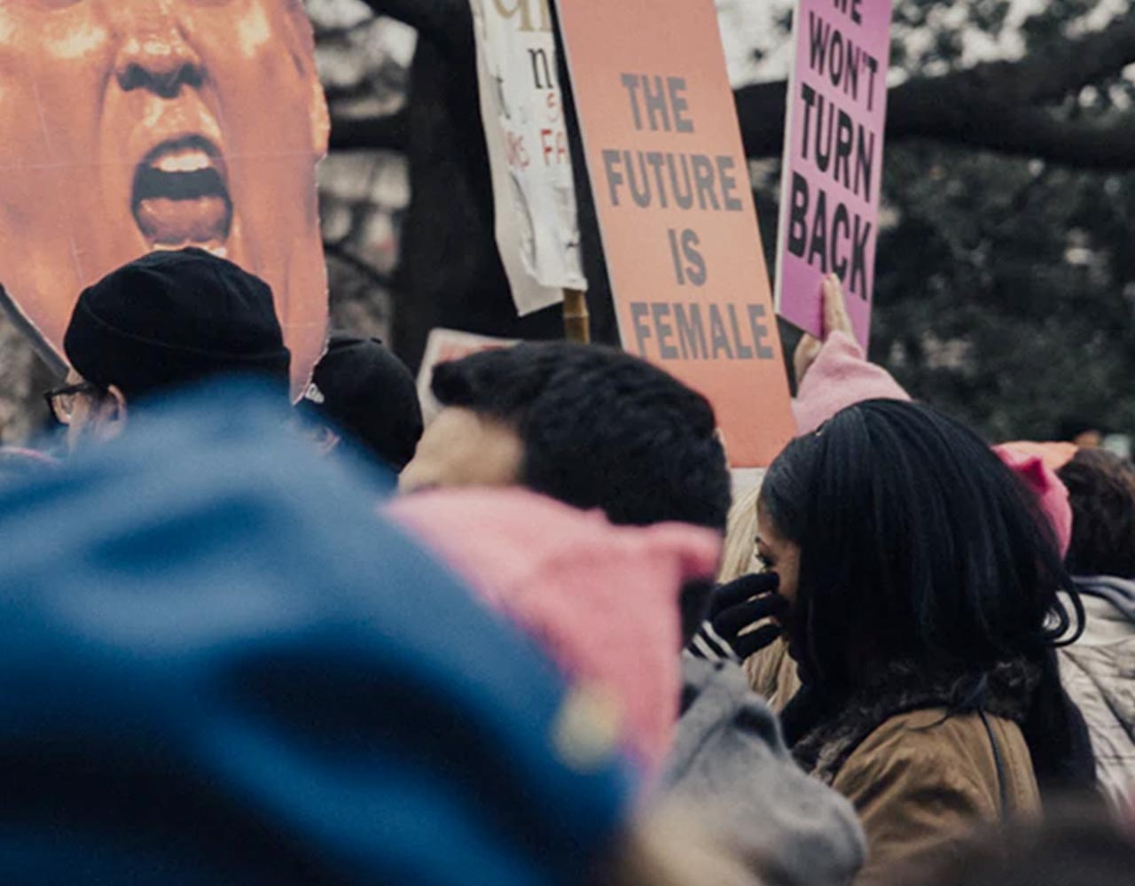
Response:
[[[558,8],[623,347],[767,465],[796,427],[713,0]]]

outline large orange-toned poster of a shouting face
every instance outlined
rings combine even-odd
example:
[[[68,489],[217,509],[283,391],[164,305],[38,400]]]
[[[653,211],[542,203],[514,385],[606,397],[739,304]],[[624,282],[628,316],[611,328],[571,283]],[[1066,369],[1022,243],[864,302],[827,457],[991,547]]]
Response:
[[[0,0],[0,285],[56,356],[84,287],[200,246],[262,277],[297,390],[327,327],[328,113],[301,0]]]

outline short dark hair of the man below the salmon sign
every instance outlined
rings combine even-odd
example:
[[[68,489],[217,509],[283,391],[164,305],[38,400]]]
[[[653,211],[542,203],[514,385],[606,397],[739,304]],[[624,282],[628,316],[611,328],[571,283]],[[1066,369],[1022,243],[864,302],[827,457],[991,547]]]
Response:
[[[595,345],[531,343],[434,371],[434,395],[504,421],[521,482],[612,523],[680,521],[724,532],[729,466],[713,408],[646,361]]]

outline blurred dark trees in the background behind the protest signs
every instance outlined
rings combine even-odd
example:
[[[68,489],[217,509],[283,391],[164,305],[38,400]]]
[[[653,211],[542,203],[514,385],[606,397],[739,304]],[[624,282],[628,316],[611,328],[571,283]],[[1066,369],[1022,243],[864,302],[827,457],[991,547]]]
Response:
[[[554,335],[554,311],[518,323],[502,288],[468,0],[308,7],[333,322],[411,362],[439,323]],[[772,267],[791,3],[717,8]],[[1127,0],[896,0],[871,356],[991,437],[1070,414],[1135,431],[1133,64]],[[9,328],[0,348],[10,441],[42,419],[44,371]]]

